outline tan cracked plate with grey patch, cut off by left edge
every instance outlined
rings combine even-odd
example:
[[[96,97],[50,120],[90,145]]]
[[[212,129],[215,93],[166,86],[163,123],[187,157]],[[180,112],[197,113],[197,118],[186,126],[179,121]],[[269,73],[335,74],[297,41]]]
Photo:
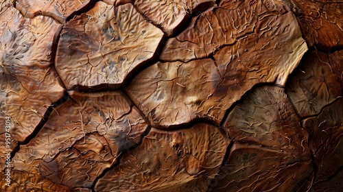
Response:
[[[62,26],[45,16],[24,19],[12,7],[1,8],[0,15],[1,117],[11,117],[12,136],[23,142],[63,95],[51,67],[52,45]]]

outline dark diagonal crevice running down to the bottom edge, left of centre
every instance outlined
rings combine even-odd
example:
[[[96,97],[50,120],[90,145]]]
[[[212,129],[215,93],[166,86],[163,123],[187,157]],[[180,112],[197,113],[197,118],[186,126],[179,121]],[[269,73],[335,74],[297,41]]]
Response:
[[[150,126],[147,126],[147,129],[143,132],[143,134],[141,134],[141,138],[139,139],[139,142],[137,142],[135,145],[132,145],[132,146],[129,147],[128,149],[124,149],[123,152],[121,152],[121,153],[119,154],[119,156],[117,156],[117,158],[115,158],[115,159],[113,160],[113,162],[115,162],[116,160],[117,160],[117,161],[116,161],[115,163],[113,163],[113,165],[110,165],[110,167],[104,169],[104,171],[102,171],[102,173],[101,173],[99,176],[97,176],[97,178],[95,178],[95,180],[94,180],[94,182],[93,182],[93,185],[92,185],[92,187],[91,187],[92,191],[96,191],[96,190],[95,190],[95,186],[96,186],[97,182],[98,182],[101,178],[104,178],[104,176],[106,175],[106,173],[107,173],[108,171],[114,169],[115,167],[117,167],[117,165],[120,165],[120,160],[121,160],[121,158],[123,157],[123,155],[129,154],[130,150],[139,147],[139,145],[141,145],[141,143],[143,143],[143,139],[145,138],[145,136],[147,136],[147,134],[150,133],[150,130],[151,130],[151,127],[150,127]]]

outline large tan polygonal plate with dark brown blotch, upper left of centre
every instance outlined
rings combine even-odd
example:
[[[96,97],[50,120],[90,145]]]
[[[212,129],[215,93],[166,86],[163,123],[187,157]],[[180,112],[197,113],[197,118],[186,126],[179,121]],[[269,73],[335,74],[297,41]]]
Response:
[[[56,69],[69,89],[115,88],[154,56],[162,38],[133,5],[99,1],[64,26]]]

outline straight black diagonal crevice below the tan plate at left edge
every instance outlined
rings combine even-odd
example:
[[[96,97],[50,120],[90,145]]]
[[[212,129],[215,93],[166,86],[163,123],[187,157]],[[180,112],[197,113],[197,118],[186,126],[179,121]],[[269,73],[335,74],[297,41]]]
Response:
[[[62,97],[58,99],[58,101],[55,101],[53,104],[51,104],[49,108],[47,108],[47,111],[45,112],[43,119],[40,120],[40,122],[38,123],[34,131],[31,134],[29,134],[25,138],[24,141],[18,142],[18,145],[13,149],[13,151],[11,152],[11,159],[15,156],[16,152],[19,151],[20,145],[27,145],[27,143],[29,143],[32,139],[34,139],[37,136],[38,132],[40,132],[40,130],[42,130],[43,126],[45,125],[45,123],[47,123],[49,116],[51,115],[51,112],[53,112],[53,110],[56,107],[62,105],[68,99],[69,99],[69,94],[67,91],[64,91],[64,94],[62,95]]]

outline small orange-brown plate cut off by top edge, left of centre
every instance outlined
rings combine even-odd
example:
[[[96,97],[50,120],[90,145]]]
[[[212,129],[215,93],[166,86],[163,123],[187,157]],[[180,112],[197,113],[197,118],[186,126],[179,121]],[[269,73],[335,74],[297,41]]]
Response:
[[[16,8],[25,18],[45,15],[51,16],[60,23],[65,23],[69,16],[86,7],[89,3],[89,0],[17,0]]]

